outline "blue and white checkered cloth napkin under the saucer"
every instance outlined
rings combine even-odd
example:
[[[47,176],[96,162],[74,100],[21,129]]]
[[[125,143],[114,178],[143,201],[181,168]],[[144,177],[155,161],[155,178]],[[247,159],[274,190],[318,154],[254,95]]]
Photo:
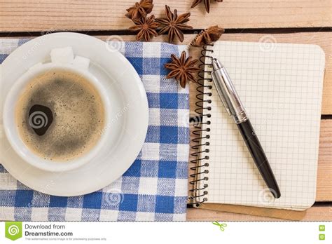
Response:
[[[27,40],[0,39],[0,62]],[[15,180],[0,164],[0,219],[35,221],[184,220],[188,179],[188,88],[166,79],[166,62],[184,46],[125,42],[118,46],[137,70],[148,96],[144,146],[125,174],[92,194],[41,194]],[[1,163],[1,162],[0,162]]]

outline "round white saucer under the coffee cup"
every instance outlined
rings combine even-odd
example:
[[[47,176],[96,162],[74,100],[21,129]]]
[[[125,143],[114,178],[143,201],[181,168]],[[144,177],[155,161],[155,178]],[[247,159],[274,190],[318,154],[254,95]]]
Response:
[[[50,50],[71,46],[75,55],[90,59],[94,74],[111,97],[111,138],[102,152],[81,168],[48,172],[32,167],[11,148],[2,127],[6,94],[23,73],[38,62],[50,60]],[[25,43],[1,65],[0,163],[23,184],[55,196],[78,196],[111,184],[130,168],[139,154],[148,128],[148,100],[139,75],[130,62],[104,41],[77,33],[55,33]]]

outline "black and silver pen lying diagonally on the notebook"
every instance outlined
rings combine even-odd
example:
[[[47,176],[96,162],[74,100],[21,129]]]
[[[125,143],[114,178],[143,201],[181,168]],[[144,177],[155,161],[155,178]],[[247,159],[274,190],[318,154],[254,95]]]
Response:
[[[268,158],[266,158],[254,128],[251,126],[246,111],[240,101],[240,97],[237,95],[233,83],[230,80],[230,76],[228,76],[225,67],[223,67],[223,65],[221,65],[221,63],[215,58],[212,60],[212,67],[212,80],[214,81],[214,86],[216,86],[216,90],[221,98],[221,102],[223,102],[223,106],[228,111],[228,114],[233,116],[237,128],[239,128],[244,142],[247,144],[251,157],[254,159],[265,184],[270,189],[272,195],[275,198],[279,198],[281,194],[275,175],[273,175],[270,163],[268,163]]]

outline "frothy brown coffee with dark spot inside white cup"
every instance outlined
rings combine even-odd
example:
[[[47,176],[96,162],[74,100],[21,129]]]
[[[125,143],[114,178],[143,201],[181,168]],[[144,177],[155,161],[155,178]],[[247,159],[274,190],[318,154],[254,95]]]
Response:
[[[104,105],[85,77],[64,69],[35,76],[15,106],[21,139],[35,154],[69,161],[87,153],[104,127]]]

